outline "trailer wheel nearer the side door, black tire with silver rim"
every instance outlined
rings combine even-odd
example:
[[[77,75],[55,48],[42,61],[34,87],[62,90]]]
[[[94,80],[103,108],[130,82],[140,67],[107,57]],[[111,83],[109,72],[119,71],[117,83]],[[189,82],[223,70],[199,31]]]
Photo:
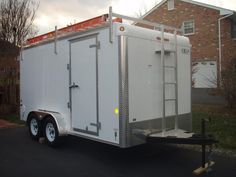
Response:
[[[51,147],[57,147],[61,144],[57,124],[52,117],[47,117],[44,123],[44,136],[46,143]]]

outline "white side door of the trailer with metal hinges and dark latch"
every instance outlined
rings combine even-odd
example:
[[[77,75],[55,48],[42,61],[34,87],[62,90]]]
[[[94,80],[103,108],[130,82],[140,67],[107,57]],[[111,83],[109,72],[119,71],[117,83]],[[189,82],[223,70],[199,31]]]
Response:
[[[98,135],[97,36],[70,42],[72,129]]]

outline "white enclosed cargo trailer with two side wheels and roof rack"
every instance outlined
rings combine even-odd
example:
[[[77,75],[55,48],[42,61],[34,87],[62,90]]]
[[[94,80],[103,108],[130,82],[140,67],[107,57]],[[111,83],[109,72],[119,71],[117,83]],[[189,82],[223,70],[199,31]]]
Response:
[[[49,144],[75,135],[119,147],[191,130],[191,59],[177,29],[112,21],[25,46],[21,119]],[[174,33],[164,32],[165,28]],[[57,33],[57,32],[56,32]]]

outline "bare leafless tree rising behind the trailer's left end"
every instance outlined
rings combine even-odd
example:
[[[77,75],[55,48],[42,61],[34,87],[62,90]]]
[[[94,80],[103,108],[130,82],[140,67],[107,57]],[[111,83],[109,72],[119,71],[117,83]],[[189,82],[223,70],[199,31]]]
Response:
[[[39,3],[34,0],[3,0],[0,4],[0,38],[20,46],[36,35],[33,25]]]

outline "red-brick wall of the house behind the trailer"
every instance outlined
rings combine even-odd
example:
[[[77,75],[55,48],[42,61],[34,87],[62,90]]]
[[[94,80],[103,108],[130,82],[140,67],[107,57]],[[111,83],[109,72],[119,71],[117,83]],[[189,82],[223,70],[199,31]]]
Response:
[[[174,10],[168,11],[167,2],[144,19],[181,28],[183,21],[194,20],[195,34],[188,35],[192,44],[192,59],[218,60],[218,18],[215,9],[175,0]],[[230,20],[222,21],[222,60],[236,57],[236,40],[231,38]]]

